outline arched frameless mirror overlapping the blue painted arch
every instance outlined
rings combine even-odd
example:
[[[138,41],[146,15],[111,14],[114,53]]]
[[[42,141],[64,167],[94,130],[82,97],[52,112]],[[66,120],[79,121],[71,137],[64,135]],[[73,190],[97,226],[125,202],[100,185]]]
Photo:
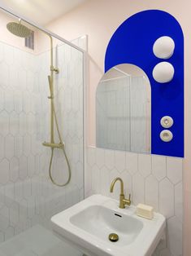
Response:
[[[96,146],[151,152],[149,78],[133,64],[108,70],[96,92]]]

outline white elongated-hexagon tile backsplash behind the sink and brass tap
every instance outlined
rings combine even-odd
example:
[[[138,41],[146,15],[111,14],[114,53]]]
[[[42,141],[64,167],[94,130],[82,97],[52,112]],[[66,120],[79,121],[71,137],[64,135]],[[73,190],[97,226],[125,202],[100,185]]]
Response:
[[[119,200],[119,183],[110,193],[112,179],[124,180],[132,203],[145,203],[167,218],[166,241],[154,256],[182,255],[182,159],[131,152],[87,148],[85,196],[101,193]]]

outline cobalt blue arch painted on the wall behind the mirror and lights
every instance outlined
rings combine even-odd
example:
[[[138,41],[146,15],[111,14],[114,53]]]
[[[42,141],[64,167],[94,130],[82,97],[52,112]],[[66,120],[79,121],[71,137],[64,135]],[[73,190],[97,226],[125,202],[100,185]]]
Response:
[[[163,61],[154,56],[156,39],[169,36],[175,51],[165,60],[175,68],[171,82],[160,84],[152,76],[153,68]],[[169,13],[159,10],[141,11],[132,15],[116,29],[105,56],[105,72],[118,64],[135,64],[147,74],[151,85],[151,152],[184,157],[184,36],[180,24]],[[163,116],[171,116],[174,125],[171,142],[163,142],[159,134]]]

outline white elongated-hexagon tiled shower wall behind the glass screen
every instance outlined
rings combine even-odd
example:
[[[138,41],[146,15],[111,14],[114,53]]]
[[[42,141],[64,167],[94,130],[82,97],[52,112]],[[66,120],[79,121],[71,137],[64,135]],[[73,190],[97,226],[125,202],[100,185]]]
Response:
[[[0,242],[36,223],[48,227],[50,216],[83,198],[82,58],[70,46],[57,48],[55,101],[72,166],[72,182],[58,188],[48,176],[50,148],[41,145],[50,140],[50,53],[33,55],[0,42]],[[60,183],[67,179],[59,150],[53,174]]]

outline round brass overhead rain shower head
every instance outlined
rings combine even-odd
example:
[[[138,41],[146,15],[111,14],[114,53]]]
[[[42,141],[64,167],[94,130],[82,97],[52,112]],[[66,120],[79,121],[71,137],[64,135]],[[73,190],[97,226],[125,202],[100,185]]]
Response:
[[[20,20],[21,22],[21,20]],[[7,24],[7,29],[9,32],[13,33],[15,36],[20,37],[20,38],[28,38],[32,31],[28,29],[26,26],[23,24],[20,24],[17,22],[10,22]]]

